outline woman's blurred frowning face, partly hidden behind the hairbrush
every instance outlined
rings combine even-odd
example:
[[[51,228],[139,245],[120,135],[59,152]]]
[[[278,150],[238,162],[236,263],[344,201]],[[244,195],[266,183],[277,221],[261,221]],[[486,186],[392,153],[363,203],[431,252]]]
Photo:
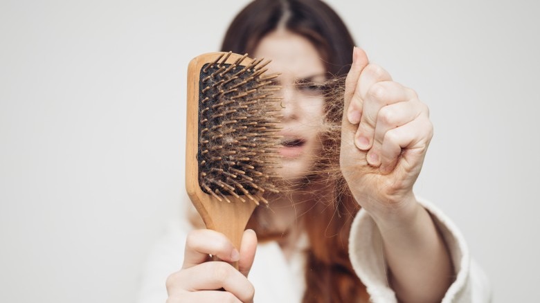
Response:
[[[271,59],[268,73],[281,73],[277,81],[284,107],[280,174],[286,180],[298,180],[321,152],[318,132],[323,126],[324,98],[316,84],[325,81],[325,66],[308,39],[287,30],[264,36],[253,57]]]

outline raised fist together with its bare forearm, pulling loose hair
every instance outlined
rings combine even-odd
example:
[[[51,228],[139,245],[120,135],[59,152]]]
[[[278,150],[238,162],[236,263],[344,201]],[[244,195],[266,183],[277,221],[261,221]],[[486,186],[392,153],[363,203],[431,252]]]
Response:
[[[400,302],[440,302],[452,266],[413,185],[433,136],[425,104],[354,48],[345,83],[340,167],[354,199],[377,224],[388,280]]]

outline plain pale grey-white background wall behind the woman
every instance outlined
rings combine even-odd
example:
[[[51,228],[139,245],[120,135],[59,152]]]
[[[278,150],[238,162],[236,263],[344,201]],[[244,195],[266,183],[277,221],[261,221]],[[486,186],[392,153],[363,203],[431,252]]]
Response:
[[[329,1],[431,108],[417,194],[537,293],[538,1]],[[405,3],[406,2],[406,3]],[[0,302],[133,302],[181,215],[186,68],[246,1],[0,2]]]

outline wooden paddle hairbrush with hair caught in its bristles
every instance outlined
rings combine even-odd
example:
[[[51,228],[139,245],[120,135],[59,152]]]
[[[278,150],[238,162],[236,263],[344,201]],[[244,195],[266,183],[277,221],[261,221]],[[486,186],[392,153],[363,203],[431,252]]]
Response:
[[[186,190],[206,228],[237,249],[262,194],[278,192],[280,98],[268,63],[207,53],[188,66]]]

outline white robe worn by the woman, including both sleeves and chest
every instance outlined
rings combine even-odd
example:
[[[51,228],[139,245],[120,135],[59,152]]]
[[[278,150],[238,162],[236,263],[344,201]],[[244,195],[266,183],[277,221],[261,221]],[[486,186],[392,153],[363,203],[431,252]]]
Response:
[[[467,244],[458,228],[438,208],[420,200],[438,226],[449,248],[456,279],[448,288],[442,302],[490,302],[491,291],[482,270],[471,261]],[[139,303],[165,302],[165,280],[182,266],[186,235],[191,229],[187,221],[170,223],[168,229],[150,253],[143,272]],[[275,241],[259,244],[249,280],[255,288],[256,303],[300,302],[305,290],[303,249],[307,239],[298,242],[289,261]],[[381,254],[381,235],[364,210],[354,218],[349,238],[352,267],[366,285],[374,303],[397,302],[388,286],[386,268]]]

